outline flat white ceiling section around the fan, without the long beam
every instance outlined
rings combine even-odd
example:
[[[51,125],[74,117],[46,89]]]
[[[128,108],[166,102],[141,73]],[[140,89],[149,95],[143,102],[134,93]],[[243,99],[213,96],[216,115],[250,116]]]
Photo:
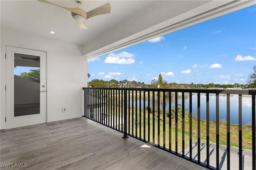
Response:
[[[55,4],[75,8],[74,0],[51,1]],[[89,18],[85,21],[88,29],[79,29],[71,12],[36,0],[1,0],[1,26],[84,45],[98,35],[112,29],[134,14],[153,6],[157,1],[99,1],[85,0],[81,5],[85,11],[110,2],[110,14]],[[55,31],[52,35],[49,31]]]

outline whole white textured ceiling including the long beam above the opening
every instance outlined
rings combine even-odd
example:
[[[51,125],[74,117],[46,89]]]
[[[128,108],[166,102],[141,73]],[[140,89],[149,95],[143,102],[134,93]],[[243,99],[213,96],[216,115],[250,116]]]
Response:
[[[71,12],[36,0],[0,0],[1,27],[81,45],[93,58],[256,3],[255,0],[84,0],[85,11],[110,3],[110,14],[79,29]],[[75,8],[74,0],[55,4]],[[50,34],[49,31],[55,31]]]

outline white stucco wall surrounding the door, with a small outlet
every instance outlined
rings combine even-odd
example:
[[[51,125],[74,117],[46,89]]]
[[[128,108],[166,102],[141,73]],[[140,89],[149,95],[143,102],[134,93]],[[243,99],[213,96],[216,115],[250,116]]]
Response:
[[[0,128],[5,129],[4,54],[6,45],[47,52],[47,122],[81,117],[83,114],[82,87],[87,86],[87,59],[82,56],[81,46],[4,27],[1,27],[0,32]],[[66,112],[62,113],[62,107],[66,107]]]

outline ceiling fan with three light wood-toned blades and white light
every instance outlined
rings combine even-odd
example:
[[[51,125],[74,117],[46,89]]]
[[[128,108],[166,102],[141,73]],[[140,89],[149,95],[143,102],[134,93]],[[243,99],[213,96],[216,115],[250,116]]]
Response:
[[[76,22],[78,23],[78,26],[80,29],[88,29],[88,27],[85,25],[84,21],[88,18],[92,18],[94,16],[102,15],[102,14],[109,14],[110,13],[110,4],[104,4],[102,6],[99,6],[98,8],[95,8],[89,12],[84,11],[79,5],[82,4],[82,0],[75,0],[75,2],[78,4],[76,8],[67,8],[64,6],[60,6],[58,4],[54,4],[48,0],[38,0],[40,2],[44,2],[47,4],[51,4],[54,6],[58,6],[60,8],[64,8],[65,10],[68,10],[71,12],[72,17]]]

